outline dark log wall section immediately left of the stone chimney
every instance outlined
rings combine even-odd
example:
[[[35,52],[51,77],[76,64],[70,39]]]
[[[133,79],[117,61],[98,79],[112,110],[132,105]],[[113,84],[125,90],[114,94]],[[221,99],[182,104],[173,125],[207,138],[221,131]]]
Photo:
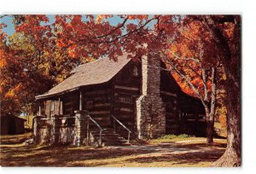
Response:
[[[141,63],[131,61],[113,78],[113,116],[128,129],[137,131],[136,101],[141,93]],[[127,136],[127,131],[115,124],[116,131]]]

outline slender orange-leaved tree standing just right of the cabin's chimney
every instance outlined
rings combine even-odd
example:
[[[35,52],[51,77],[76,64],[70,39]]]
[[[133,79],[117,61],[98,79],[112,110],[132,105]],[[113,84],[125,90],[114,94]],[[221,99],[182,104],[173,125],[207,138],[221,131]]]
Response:
[[[169,38],[166,44],[170,48],[162,51],[162,57],[182,89],[201,100],[207,119],[207,143],[212,143],[217,78],[221,75],[217,48],[201,22],[187,20],[186,17],[177,19],[168,24],[176,30],[166,36]],[[214,57],[213,61],[206,61],[208,57]]]

